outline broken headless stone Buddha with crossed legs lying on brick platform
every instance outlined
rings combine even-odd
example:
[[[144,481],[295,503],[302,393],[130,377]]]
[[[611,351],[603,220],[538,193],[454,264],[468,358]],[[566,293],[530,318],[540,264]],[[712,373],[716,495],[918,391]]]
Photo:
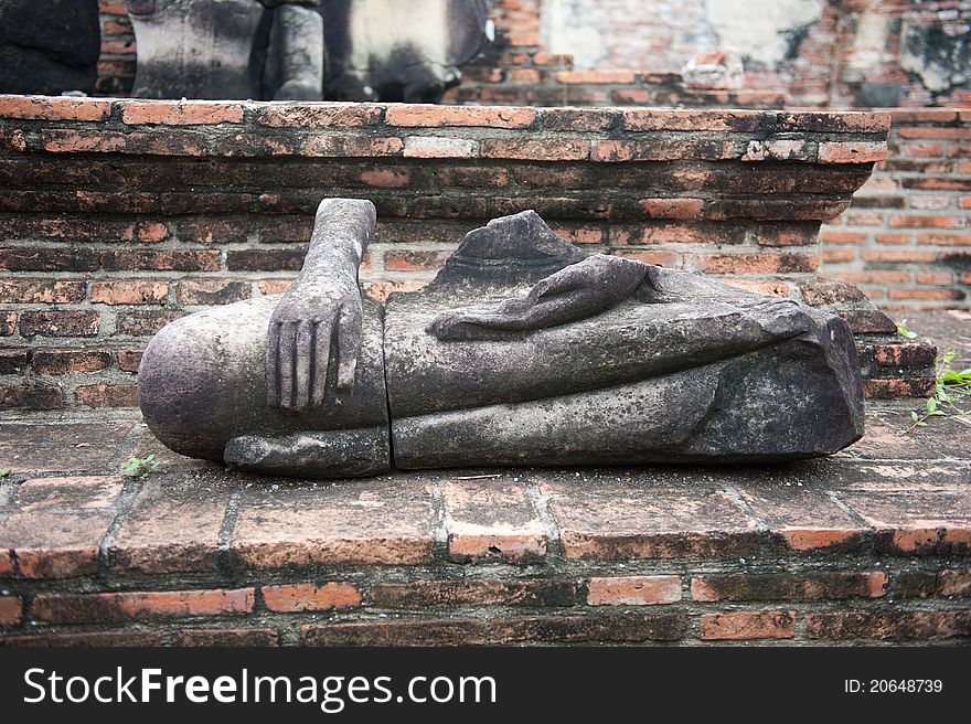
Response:
[[[369,201],[328,199],[282,296],[163,328],[138,394],[168,447],[299,477],[513,465],[773,462],[863,434],[853,337],[791,299],[586,256],[535,212],[470,232],[382,308]]]

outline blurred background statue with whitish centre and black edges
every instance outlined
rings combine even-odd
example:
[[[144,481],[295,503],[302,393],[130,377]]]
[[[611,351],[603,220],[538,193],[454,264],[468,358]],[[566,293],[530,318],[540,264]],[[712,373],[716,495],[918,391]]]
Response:
[[[339,100],[438,103],[487,38],[486,0],[322,0],[326,92]]]

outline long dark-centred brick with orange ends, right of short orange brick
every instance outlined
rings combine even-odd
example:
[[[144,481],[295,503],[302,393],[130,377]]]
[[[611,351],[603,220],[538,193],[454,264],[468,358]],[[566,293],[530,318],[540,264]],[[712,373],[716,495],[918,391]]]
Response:
[[[693,600],[821,600],[884,595],[887,574],[709,574],[691,579]]]

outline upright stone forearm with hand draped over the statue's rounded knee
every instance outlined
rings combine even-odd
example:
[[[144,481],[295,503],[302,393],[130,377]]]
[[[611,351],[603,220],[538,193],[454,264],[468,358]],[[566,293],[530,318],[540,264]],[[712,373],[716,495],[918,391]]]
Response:
[[[320,203],[303,268],[274,310],[267,330],[270,407],[300,412],[323,404],[329,366],[335,370],[338,388],[354,386],[363,320],[358,267],[375,222],[370,201]]]

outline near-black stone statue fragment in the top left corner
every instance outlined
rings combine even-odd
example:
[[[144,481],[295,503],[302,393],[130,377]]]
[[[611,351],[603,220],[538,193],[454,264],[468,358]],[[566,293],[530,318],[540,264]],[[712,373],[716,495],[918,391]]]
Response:
[[[98,0],[0,0],[0,93],[90,94],[100,52]]]

